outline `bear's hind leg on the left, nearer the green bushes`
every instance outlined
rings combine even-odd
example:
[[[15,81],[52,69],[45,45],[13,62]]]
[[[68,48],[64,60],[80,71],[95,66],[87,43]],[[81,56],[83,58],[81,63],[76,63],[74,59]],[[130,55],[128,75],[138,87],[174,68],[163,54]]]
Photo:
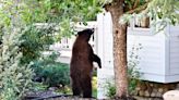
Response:
[[[73,96],[80,96],[81,95],[80,84],[76,79],[72,80],[72,91],[73,91]]]

